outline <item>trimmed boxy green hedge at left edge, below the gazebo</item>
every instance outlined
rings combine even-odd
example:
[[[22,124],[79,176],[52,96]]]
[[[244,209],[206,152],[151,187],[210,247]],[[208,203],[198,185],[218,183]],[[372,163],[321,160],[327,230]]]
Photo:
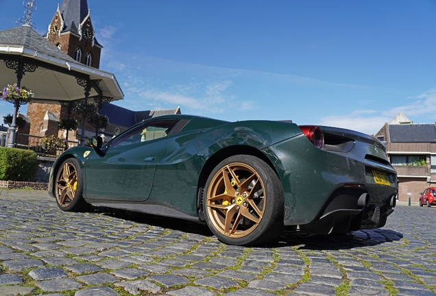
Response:
[[[31,181],[37,169],[34,151],[0,147],[0,180]]]

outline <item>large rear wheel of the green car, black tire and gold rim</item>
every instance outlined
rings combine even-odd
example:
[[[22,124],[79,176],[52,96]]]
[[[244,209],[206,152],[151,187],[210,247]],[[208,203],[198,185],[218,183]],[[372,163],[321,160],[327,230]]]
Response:
[[[271,167],[254,156],[220,162],[206,182],[203,205],[208,227],[229,245],[267,243],[284,230],[282,184]]]

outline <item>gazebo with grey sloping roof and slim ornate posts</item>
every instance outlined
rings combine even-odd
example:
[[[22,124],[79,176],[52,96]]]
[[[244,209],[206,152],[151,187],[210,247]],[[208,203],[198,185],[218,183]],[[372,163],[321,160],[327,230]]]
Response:
[[[101,105],[124,97],[114,74],[80,64],[29,25],[0,31],[0,60],[0,87],[23,84],[32,90],[36,103],[71,104],[93,97]],[[18,109],[16,102],[8,147],[14,147]],[[84,117],[81,145],[85,123]]]

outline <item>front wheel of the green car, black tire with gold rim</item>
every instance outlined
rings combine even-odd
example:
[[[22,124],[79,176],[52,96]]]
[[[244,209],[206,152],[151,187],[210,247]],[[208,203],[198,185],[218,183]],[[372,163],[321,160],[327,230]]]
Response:
[[[64,212],[80,212],[89,208],[84,200],[83,178],[79,162],[69,158],[62,162],[56,173],[56,202]]]

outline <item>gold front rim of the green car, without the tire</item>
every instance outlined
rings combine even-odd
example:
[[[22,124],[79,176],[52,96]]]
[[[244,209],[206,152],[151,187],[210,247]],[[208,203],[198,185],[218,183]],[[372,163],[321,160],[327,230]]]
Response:
[[[77,171],[71,162],[66,162],[56,180],[56,199],[62,207],[69,206],[77,191]]]

